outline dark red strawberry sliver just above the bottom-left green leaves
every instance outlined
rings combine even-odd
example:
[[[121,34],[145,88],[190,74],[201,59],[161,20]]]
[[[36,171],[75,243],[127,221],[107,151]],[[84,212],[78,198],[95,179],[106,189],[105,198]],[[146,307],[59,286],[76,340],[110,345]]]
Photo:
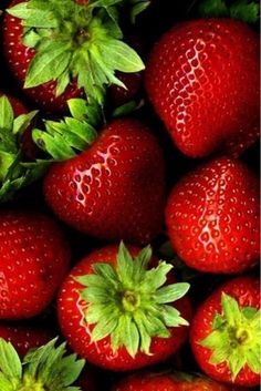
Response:
[[[18,323],[0,323],[0,338],[11,342],[20,357],[53,339],[53,332],[43,327]]]

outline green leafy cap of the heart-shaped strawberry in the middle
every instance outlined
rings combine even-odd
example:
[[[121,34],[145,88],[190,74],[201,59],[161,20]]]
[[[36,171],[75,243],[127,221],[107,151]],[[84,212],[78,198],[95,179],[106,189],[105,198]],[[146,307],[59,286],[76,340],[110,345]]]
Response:
[[[95,101],[87,103],[82,99],[67,101],[72,117],[44,121],[45,131],[34,128],[34,143],[54,161],[63,161],[85,151],[97,136],[95,127],[102,122],[102,110]]]

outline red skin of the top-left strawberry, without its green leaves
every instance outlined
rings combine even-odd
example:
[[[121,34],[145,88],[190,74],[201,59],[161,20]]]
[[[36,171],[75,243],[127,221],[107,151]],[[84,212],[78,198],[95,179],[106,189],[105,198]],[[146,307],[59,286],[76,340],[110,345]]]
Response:
[[[14,0],[9,8],[23,2]],[[3,18],[3,54],[8,62],[8,66],[13,76],[18,81],[20,88],[23,86],[25,74],[35,51],[27,48],[22,43],[23,27],[21,20],[6,12]],[[56,96],[56,82],[48,82],[32,89],[23,89],[27,96],[32,102],[48,113],[65,113],[67,112],[66,101],[72,97],[83,95],[83,92],[77,88],[76,82],[72,82],[63,94]]]

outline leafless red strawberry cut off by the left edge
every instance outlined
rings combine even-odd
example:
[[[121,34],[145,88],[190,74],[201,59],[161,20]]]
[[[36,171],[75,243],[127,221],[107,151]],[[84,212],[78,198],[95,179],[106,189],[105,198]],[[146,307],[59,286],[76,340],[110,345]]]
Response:
[[[48,216],[0,212],[0,319],[40,313],[53,299],[70,261],[60,227]]]

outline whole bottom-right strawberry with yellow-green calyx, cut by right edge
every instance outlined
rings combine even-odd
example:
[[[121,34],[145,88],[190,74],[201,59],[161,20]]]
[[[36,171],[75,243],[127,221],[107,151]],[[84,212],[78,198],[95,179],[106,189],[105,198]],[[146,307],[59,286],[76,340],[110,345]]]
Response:
[[[260,321],[259,279],[241,276],[225,282],[192,320],[190,342],[199,367],[218,381],[258,385]]]

